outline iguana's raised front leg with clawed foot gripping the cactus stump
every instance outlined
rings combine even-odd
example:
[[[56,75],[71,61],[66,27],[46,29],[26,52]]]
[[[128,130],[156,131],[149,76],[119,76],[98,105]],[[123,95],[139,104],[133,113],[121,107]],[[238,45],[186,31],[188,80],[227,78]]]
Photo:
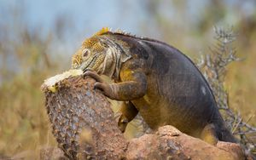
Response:
[[[147,92],[147,77],[140,69],[124,68],[120,72],[121,83],[105,83],[95,71],[85,71],[84,76],[95,78],[95,88],[102,90],[112,100],[134,100]]]

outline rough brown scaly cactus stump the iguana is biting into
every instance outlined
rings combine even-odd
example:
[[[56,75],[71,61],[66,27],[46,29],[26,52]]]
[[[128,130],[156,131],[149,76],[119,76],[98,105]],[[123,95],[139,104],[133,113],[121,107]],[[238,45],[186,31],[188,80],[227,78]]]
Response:
[[[66,75],[71,73],[57,75],[61,81],[50,78],[50,86],[49,81],[42,85],[58,146],[71,159],[121,158],[126,140],[114,120],[107,98],[93,89],[93,78]]]

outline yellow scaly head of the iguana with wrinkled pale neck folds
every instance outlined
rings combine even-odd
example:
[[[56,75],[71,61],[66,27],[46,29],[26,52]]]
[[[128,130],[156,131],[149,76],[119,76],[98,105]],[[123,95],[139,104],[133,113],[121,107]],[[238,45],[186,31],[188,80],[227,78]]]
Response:
[[[72,68],[91,69],[99,74],[109,77],[119,75],[121,63],[131,58],[126,54],[122,45],[117,44],[115,39],[110,38],[108,28],[98,31],[93,37],[85,39],[80,49],[73,55]]]

